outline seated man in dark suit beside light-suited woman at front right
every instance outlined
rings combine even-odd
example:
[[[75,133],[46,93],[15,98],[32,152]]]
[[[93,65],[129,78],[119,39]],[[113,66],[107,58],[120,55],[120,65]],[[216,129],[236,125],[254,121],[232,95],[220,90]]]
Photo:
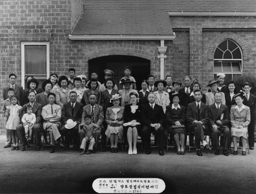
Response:
[[[209,105],[209,123],[212,140],[216,147],[215,155],[220,155],[219,136],[223,134],[223,155],[228,156],[228,145],[230,143],[230,122],[228,107],[221,103],[222,93],[214,93],[215,103]]]

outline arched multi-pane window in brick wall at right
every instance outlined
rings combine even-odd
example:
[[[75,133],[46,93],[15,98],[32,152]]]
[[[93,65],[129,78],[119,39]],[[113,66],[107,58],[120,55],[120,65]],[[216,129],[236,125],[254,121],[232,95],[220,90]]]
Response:
[[[234,75],[242,74],[242,52],[238,44],[226,39],[216,48],[214,53],[214,77],[217,73],[225,73],[225,82]]]

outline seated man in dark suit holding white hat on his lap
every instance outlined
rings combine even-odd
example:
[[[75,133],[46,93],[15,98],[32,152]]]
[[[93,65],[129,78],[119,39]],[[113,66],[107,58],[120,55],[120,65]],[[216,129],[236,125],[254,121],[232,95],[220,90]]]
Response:
[[[63,104],[63,109],[61,110],[61,118],[63,125],[60,128],[61,136],[65,137],[65,144],[69,147],[70,139],[72,137],[73,143],[75,147],[78,147],[77,140],[79,139],[78,131],[79,131],[79,124],[81,123],[81,115],[82,115],[82,108],[83,105],[76,101],[77,94],[75,91],[71,91],[69,93],[70,101]],[[72,119],[75,126],[66,126],[67,121]],[[70,135],[69,135],[70,132]],[[70,137],[71,136],[71,137]]]

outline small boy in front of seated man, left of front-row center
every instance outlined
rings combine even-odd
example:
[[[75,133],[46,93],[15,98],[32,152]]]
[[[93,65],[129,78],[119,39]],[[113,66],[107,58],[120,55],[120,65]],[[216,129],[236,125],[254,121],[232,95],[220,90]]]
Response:
[[[86,150],[86,144],[89,142],[89,147],[86,154],[91,154],[93,150],[93,146],[95,143],[95,139],[93,135],[95,134],[95,131],[98,130],[100,127],[97,124],[94,124],[92,122],[91,115],[86,115],[84,117],[84,123],[81,123],[81,126],[83,126],[83,129],[86,132],[86,137],[82,139],[82,143],[80,146],[81,153],[80,155],[83,155]]]

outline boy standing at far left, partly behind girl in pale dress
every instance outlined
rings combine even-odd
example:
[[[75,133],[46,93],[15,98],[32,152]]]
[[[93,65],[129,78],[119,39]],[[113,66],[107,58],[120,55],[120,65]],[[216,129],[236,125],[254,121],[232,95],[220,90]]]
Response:
[[[6,122],[7,122],[6,107],[11,105],[11,97],[14,95],[14,89],[9,88],[7,90],[7,95],[8,95],[8,98],[4,101],[4,105],[3,105],[3,115],[4,115],[4,122],[5,122],[4,126],[6,126]],[[4,148],[11,147],[11,143],[12,143],[11,131],[8,130],[7,128],[5,128],[5,135],[6,135],[6,140],[5,140]]]

